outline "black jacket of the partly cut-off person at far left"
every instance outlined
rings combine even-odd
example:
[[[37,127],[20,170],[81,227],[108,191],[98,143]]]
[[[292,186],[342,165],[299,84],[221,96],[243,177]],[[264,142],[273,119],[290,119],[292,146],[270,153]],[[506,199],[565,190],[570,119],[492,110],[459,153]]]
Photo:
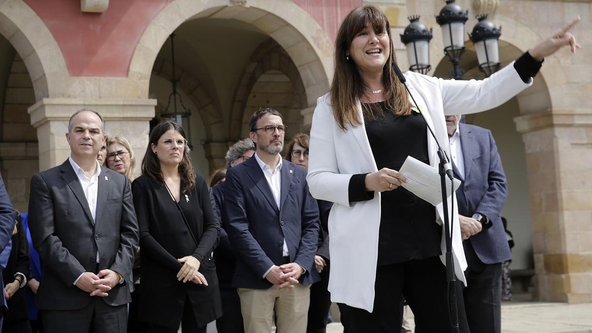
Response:
[[[12,250],[10,251],[10,257],[8,257],[8,264],[2,271],[4,287],[8,283],[14,282],[14,275],[17,273],[22,273],[29,278],[29,242],[27,241],[27,233],[25,233],[25,228],[22,228],[21,222],[18,222],[17,229],[18,232],[12,235]],[[4,322],[28,318],[27,293],[24,288],[18,289],[11,299],[6,302],[8,311],[4,314]]]

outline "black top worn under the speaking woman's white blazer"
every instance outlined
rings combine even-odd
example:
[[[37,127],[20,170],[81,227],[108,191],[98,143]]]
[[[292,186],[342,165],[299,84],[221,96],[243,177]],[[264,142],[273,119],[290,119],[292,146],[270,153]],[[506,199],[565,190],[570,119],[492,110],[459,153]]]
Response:
[[[429,164],[427,127],[421,114],[397,117],[387,110],[384,103],[380,105],[385,112],[384,118],[364,119],[377,168],[398,171],[407,156]],[[360,197],[363,194],[365,198]],[[370,200],[374,193],[359,191],[358,196],[359,199]],[[382,192],[378,265],[442,254],[442,228],[435,220],[435,207],[405,188]]]

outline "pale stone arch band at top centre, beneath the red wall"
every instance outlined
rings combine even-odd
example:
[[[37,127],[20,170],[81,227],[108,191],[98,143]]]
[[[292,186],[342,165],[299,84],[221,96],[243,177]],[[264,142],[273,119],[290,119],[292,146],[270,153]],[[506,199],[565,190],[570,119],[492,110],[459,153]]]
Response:
[[[286,50],[302,78],[307,107],[329,88],[332,43],[318,23],[292,1],[176,0],[167,5],[144,31],[134,51],[128,77],[149,79],[160,48],[170,33],[192,18],[244,21],[269,34]],[[148,95],[145,88],[144,95]]]

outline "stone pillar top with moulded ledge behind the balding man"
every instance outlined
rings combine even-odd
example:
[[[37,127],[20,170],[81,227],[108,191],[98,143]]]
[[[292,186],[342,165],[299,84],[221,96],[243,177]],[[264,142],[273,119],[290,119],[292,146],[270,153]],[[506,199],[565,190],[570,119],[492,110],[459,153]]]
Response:
[[[155,115],[156,100],[43,98],[28,108],[31,124],[37,129],[39,169],[62,164],[70,155],[66,141],[68,120],[81,108],[95,110],[106,121],[108,136],[123,135],[136,154],[136,175],[148,145],[149,121]]]

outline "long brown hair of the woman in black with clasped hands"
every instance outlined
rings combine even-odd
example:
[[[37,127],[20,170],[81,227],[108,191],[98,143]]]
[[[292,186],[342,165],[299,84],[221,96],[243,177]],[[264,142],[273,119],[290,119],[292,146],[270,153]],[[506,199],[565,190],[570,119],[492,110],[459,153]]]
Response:
[[[157,124],[148,139],[148,148],[144,154],[142,160],[142,175],[156,181],[158,184],[164,184],[162,173],[160,172],[160,161],[158,156],[152,151],[152,145],[158,145],[160,137],[168,130],[175,130],[181,136],[187,140],[183,127],[175,123],[175,121],[165,119],[161,123]],[[181,181],[184,183],[182,188],[183,193],[189,192],[195,188],[195,171],[193,165],[191,165],[191,156],[189,156],[189,147],[185,145],[183,149],[183,158],[179,163],[179,175],[181,175]]]

